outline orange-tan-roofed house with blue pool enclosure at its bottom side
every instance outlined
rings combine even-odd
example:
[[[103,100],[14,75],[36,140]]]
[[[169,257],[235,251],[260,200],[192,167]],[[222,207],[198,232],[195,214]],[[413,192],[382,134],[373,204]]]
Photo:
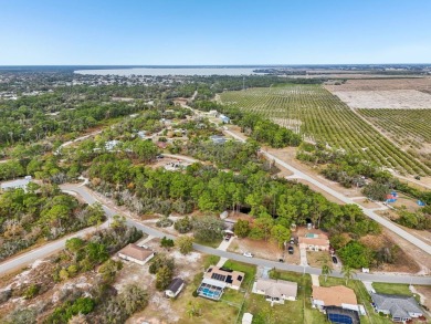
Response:
[[[338,306],[345,310],[360,312],[354,290],[344,286],[313,286],[313,306],[323,311],[326,306]]]

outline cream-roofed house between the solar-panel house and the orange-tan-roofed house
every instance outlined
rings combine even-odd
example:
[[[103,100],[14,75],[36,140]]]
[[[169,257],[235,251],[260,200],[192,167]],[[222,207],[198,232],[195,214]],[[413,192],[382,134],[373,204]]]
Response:
[[[278,304],[284,301],[295,301],[297,283],[284,280],[257,279],[253,284],[253,293],[265,295],[265,300]]]

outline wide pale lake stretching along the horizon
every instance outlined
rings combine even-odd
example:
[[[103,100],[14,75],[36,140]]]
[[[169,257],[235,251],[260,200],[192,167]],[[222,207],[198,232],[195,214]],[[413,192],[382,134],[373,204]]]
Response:
[[[104,70],[76,70],[77,74],[93,75],[251,75],[259,67],[130,67]]]

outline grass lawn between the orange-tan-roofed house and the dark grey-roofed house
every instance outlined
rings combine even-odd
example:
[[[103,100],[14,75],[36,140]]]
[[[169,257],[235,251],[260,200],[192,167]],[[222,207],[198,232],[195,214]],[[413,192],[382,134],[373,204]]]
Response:
[[[340,278],[333,278],[328,276],[327,281],[323,276],[319,276],[320,285],[322,286],[333,286],[333,285],[346,285],[346,280]],[[372,284],[372,286],[375,283]],[[362,324],[390,324],[392,321],[390,321],[387,317],[382,317],[379,314],[377,314],[372,306],[371,306],[371,297],[367,290],[365,289],[365,285],[362,282],[358,280],[349,280],[347,283],[347,286],[353,289],[356,294],[356,299],[358,300],[358,304],[364,305],[364,307],[367,311],[366,316],[360,316],[360,323]],[[377,291],[377,290],[376,290]]]

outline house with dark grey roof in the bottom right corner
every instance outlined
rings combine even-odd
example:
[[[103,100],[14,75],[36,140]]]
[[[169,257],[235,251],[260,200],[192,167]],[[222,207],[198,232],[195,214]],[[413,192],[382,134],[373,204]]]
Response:
[[[411,318],[423,316],[423,311],[411,296],[377,293],[370,293],[370,295],[375,311],[391,315],[393,322],[407,322]]]

